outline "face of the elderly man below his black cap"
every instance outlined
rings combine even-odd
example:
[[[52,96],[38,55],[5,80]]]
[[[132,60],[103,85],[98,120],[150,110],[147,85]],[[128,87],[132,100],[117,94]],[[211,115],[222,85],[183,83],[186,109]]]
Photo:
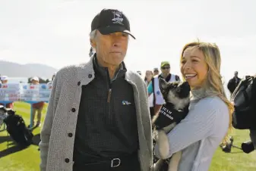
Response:
[[[128,48],[127,33],[111,33],[103,35],[99,31],[96,39],[92,40],[92,45],[96,48],[97,57],[106,64],[119,65],[124,61]]]

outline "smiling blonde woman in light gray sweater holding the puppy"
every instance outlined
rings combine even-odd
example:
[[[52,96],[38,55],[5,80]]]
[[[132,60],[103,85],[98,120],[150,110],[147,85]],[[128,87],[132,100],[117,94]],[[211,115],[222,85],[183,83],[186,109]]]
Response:
[[[168,134],[169,157],[182,151],[179,171],[208,170],[214,151],[231,128],[232,104],[220,76],[220,50],[215,44],[191,42],[181,55],[183,79],[191,86],[188,116]],[[158,146],[155,154],[159,157]]]

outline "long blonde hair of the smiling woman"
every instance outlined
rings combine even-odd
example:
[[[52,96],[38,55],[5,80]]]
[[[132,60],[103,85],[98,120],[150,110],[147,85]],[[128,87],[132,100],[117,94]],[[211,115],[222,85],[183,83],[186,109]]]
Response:
[[[210,92],[210,95],[216,95],[221,98],[229,107],[229,130],[232,129],[232,112],[234,111],[233,104],[226,98],[224,91],[222,76],[220,75],[220,49],[216,44],[208,42],[190,42],[184,46],[181,55],[181,64],[185,49],[194,47],[198,48],[204,54],[204,60],[208,66],[207,79],[204,84],[204,89]],[[185,78],[183,78],[185,79]]]

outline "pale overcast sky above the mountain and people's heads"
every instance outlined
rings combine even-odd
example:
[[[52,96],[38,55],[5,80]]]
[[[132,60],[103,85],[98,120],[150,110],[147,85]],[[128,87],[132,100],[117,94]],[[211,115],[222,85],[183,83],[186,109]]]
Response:
[[[90,23],[103,8],[130,20],[130,70],[167,60],[179,74],[182,47],[201,39],[220,46],[223,76],[256,73],[255,0],[1,0],[0,60],[58,69],[88,61]]]

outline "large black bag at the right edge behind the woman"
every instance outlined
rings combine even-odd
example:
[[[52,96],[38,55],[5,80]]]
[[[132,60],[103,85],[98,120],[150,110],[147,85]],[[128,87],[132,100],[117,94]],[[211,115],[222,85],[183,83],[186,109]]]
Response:
[[[231,101],[235,104],[232,126],[235,129],[256,129],[256,76],[242,79],[233,92]]]

